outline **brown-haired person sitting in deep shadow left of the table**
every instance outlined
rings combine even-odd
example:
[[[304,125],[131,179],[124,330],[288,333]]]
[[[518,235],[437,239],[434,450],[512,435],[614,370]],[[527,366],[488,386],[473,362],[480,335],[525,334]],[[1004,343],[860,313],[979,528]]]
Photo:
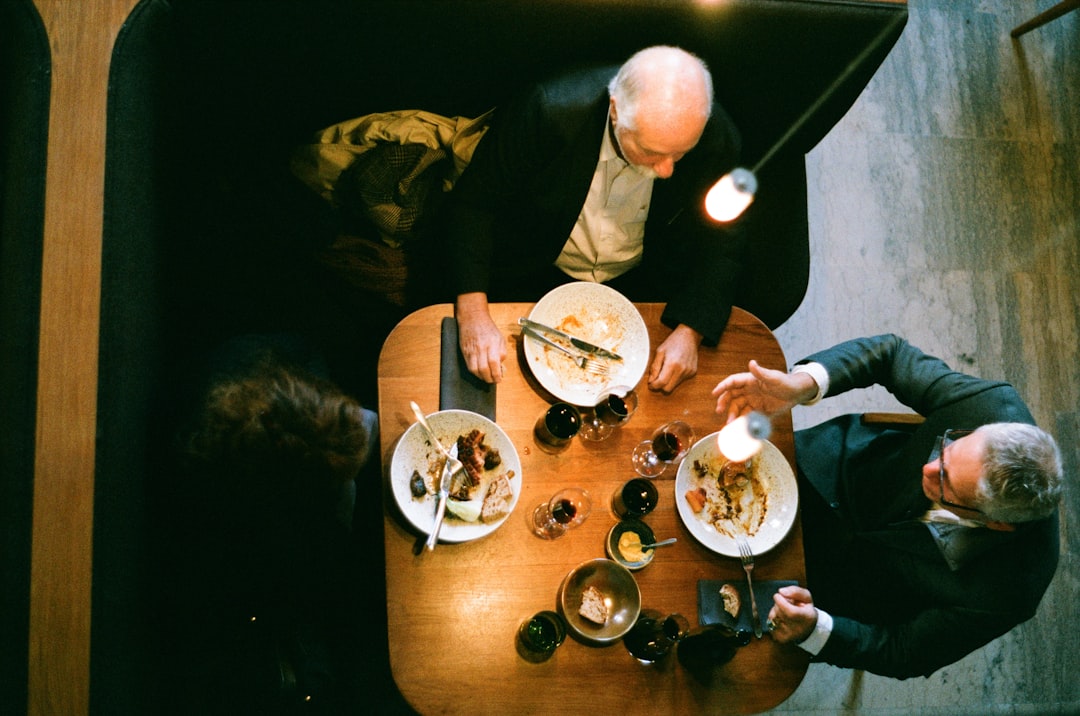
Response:
[[[203,713],[325,706],[355,661],[362,565],[351,532],[378,418],[296,336],[233,339],[184,392],[165,604],[195,653],[179,652],[201,687],[186,698],[212,708]]]

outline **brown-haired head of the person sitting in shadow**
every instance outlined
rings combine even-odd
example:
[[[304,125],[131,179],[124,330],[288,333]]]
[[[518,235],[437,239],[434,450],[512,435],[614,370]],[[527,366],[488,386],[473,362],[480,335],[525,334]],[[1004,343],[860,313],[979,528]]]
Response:
[[[276,515],[296,523],[333,508],[348,530],[353,481],[375,448],[378,419],[323,377],[321,365],[294,363],[296,348],[276,340],[227,359],[239,364],[211,377],[181,455],[210,494],[237,508],[230,522]]]

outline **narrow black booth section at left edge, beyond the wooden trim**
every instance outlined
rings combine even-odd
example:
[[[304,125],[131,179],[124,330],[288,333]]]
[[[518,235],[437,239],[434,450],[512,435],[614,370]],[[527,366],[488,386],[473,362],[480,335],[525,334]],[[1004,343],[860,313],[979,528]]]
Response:
[[[50,52],[30,0],[0,1],[0,712],[27,708]]]

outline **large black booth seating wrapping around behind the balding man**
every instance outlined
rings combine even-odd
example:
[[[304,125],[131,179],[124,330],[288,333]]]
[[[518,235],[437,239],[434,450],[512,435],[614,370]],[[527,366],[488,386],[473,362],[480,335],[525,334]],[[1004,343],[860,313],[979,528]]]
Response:
[[[92,711],[183,713],[205,665],[222,658],[170,640],[188,625],[170,623],[175,576],[159,528],[184,515],[160,488],[173,478],[170,389],[185,370],[232,336],[292,332],[320,348],[339,386],[376,404],[379,348],[403,309],[312,260],[336,218],[289,173],[296,145],[370,112],[475,117],[551,72],[670,43],[708,63],[753,164],[897,12],[775,0],[140,2],[118,38],[109,84]],[[806,291],[804,154],[889,46],[762,172],[747,215],[759,268],[741,303],[769,325]],[[342,700],[396,714],[407,707],[387,659],[377,467],[365,479],[356,537],[368,546],[351,576],[365,629]]]

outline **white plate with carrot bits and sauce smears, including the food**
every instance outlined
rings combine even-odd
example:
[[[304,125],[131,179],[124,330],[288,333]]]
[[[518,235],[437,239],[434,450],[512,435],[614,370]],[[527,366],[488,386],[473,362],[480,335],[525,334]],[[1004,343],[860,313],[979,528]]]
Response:
[[[719,433],[693,444],[675,475],[675,503],[690,533],[713,552],[738,557],[735,535],[754,554],[777,546],[795,524],[799,492],[780,449],[761,441],[746,462],[732,462],[716,444]]]

